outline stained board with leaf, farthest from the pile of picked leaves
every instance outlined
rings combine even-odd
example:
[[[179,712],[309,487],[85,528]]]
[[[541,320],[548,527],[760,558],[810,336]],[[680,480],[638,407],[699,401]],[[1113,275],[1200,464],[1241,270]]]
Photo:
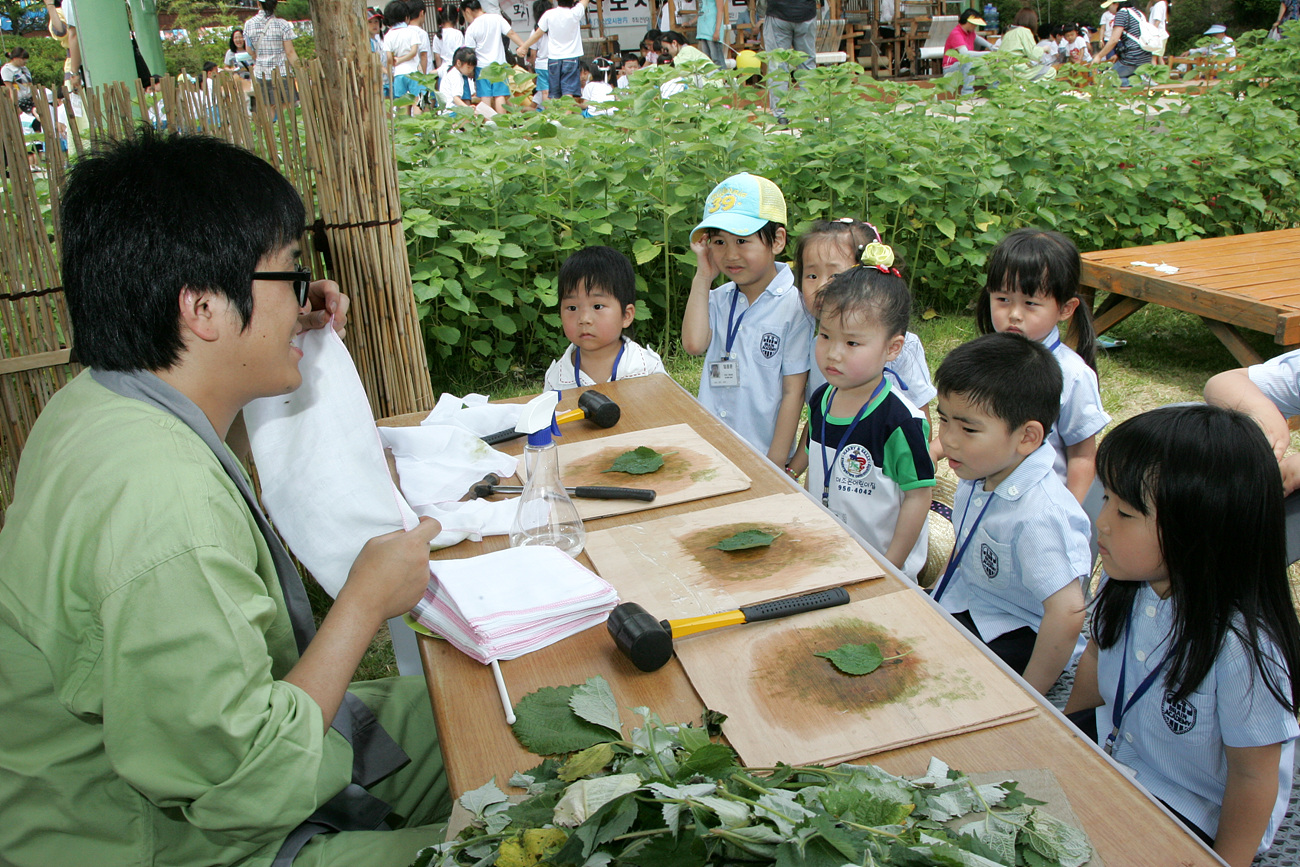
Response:
[[[578,485],[611,485],[614,487],[653,489],[653,503],[628,499],[578,499],[577,513],[582,520],[627,515],[660,506],[688,503],[718,494],[749,490],[750,478],[736,464],[696,433],[690,425],[668,425],[649,430],[588,439],[556,441],[560,458],[560,480],[569,487]],[[649,446],[664,455],[663,467],[653,473],[633,476],[607,473],[614,459],[638,446]],[[675,454],[668,454],[675,452]],[[520,476],[524,465],[520,461]]]

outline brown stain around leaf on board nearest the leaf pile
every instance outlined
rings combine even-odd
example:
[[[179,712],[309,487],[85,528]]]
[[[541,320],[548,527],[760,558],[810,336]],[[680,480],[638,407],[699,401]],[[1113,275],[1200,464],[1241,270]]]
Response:
[[[858,677],[844,675],[828,659],[812,655],[846,643],[875,643],[887,658],[907,655],[889,659],[870,675]],[[870,716],[874,707],[916,695],[930,677],[926,659],[906,638],[857,617],[779,630],[755,643],[753,653],[753,689],[770,697],[771,701],[763,705],[772,710],[776,718],[772,721],[789,729],[807,724],[809,705]]]

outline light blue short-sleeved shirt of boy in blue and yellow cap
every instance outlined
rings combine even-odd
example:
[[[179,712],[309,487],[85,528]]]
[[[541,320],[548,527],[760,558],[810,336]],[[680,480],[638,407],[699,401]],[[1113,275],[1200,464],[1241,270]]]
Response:
[[[736,298],[740,330],[731,357],[740,367],[738,386],[714,386],[710,365],[727,354],[727,320]],[[734,320],[733,320],[734,322]],[[750,307],[736,283],[708,292],[708,328],[712,339],[705,352],[699,402],[762,454],[772,445],[784,377],[806,373],[812,342],[812,317],[794,287],[789,265],[776,264],[776,278]]]

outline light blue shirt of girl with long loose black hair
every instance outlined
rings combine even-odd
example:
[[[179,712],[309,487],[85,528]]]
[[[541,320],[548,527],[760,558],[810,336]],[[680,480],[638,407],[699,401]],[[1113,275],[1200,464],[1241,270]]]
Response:
[[[1113,725],[1112,708],[1126,653],[1126,693],[1164,662],[1174,625],[1173,601],[1161,599],[1150,585],[1143,586],[1134,601],[1130,623],[1127,645],[1121,638],[1097,654],[1097,685],[1106,701],[1097,708],[1097,732],[1102,737]],[[1288,689],[1284,668],[1278,662],[1280,654],[1271,642],[1266,643],[1266,653],[1277,666],[1283,690]],[[1164,689],[1162,676],[1157,676],[1150,689],[1123,715],[1114,759],[1131,768],[1138,783],[1152,794],[1214,837],[1227,785],[1223,747],[1282,744],[1278,797],[1261,841],[1261,848],[1268,848],[1286,815],[1291,794],[1295,738],[1300,736],[1295,716],[1264,685],[1264,676],[1254,669],[1249,651],[1231,630],[1209,675],[1191,697],[1180,702],[1171,702],[1171,697]]]

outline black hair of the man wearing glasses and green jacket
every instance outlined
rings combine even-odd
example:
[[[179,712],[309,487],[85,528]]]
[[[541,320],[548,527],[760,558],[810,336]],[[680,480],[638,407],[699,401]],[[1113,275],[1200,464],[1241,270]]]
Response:
[[[104,370],[179,360],[186,286],[224,295],[247,325],[257,263],[306,224],[298,191],[261,157],[147,125],[78,160],[61,211],[74,351]]]

